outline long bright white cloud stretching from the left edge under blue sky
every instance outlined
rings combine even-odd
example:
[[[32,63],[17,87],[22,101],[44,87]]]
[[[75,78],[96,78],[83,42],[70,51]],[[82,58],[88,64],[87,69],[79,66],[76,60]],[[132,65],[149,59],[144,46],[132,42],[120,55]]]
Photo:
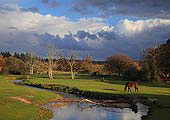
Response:
[[[42,15],[21,10],[0,12],[0,17],[3,18],[0,19],[2,29],[12,26],[19,31],[34,31],[40,34],[48,32],[62,37],[70,31],[76,33],[82,30],[94,33],[107,26],[100,18],[81,18],[71,21],[64,16]]]

